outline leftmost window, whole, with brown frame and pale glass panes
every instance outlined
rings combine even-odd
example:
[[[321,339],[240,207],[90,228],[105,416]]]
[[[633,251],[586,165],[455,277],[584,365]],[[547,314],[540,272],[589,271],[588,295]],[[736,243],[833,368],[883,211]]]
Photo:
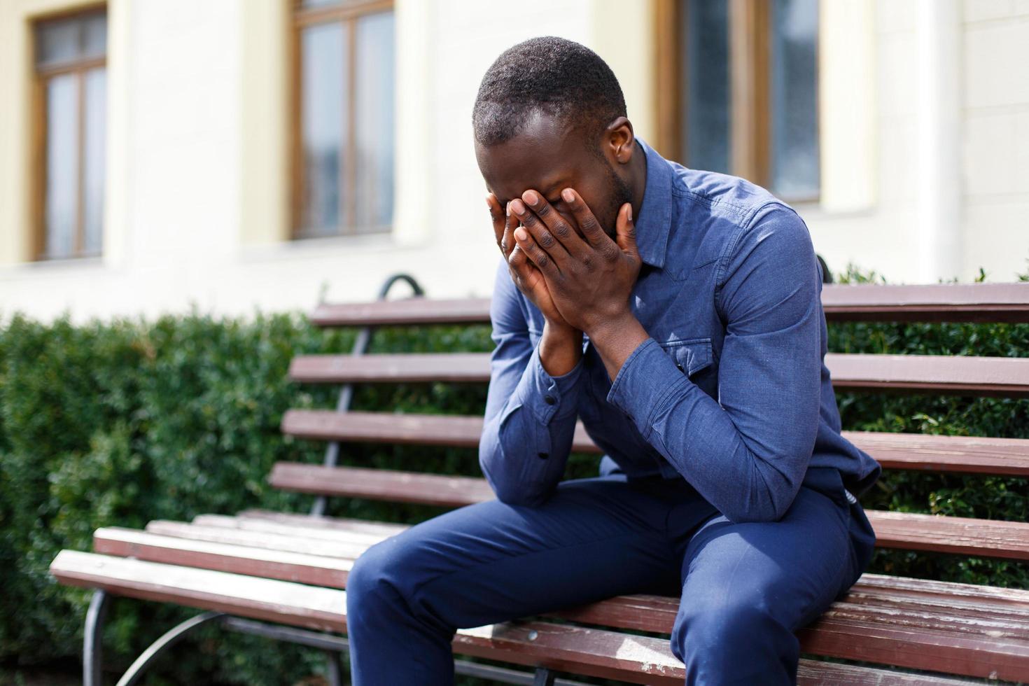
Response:
[[[103,240],[107,14],[35,28],[37,259],[99,255]]]

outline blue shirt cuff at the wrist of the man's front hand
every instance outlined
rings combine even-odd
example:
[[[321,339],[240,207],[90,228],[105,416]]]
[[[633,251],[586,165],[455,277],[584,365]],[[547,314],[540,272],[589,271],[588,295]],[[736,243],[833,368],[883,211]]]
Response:
[[[675,362],[653,338],[647,338],[626,358],[614,375],[607,401],[631,419],[640,435],[647,438],[653,427],[651,417],[665,399],[688,384]]]

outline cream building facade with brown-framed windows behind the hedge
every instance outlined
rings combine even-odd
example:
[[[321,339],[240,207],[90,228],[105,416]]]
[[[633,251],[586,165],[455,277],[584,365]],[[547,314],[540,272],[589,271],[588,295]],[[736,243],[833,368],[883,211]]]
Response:
[[[1026,0],[0,0],[0,317],[488,295],[471,106],[548,34],[833,270],[1029,270]]]

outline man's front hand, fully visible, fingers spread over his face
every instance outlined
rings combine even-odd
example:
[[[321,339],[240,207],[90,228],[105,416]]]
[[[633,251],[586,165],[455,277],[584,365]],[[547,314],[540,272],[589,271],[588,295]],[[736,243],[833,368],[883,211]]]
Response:
[[[542,276],[564,320],[590,335],[614,378],[647,337],[629,306],[641,265],[633,208],[626,203],[618,210],[612,241],[577,192],[565,188],[561,196],[578,231],[540,193],[527,190],[509,206],[522,223],[513,230],[517,248]]]

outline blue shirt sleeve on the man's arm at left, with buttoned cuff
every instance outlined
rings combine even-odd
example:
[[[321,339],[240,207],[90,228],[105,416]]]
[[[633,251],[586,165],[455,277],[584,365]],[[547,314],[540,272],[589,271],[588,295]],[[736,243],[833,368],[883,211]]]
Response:
[[[496,347],[490,356],[486,418],[478,463],[497,499],[539,506],[564,475],[575,433],[582,360],[552,376],[529,337],[521,294],[506,263],[497,269],[490,319]]]

